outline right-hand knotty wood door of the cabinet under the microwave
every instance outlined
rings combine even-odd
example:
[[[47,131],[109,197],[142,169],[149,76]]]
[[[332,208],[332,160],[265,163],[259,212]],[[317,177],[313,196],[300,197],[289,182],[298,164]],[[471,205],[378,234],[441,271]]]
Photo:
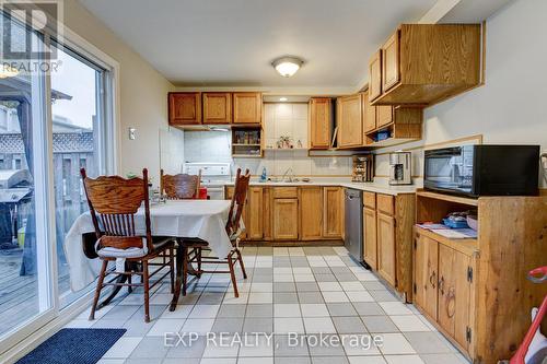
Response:
[[[439,325],[465,350],[468,348],[470,258],[445,245],[439,247]]]

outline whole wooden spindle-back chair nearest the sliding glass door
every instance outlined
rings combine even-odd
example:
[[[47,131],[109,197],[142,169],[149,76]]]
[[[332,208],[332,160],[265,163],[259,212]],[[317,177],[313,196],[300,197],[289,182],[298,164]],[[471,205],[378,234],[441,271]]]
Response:
[[[85,169],[81,175],[90,213],[95,227],[97,239],[96,253],[103,261],[98,275],[95,298],[90,314],[90,320],[95,318],[101,291],[106,285],[127,286],[129,292],[135,286],[144,289],[144,321],[150,322],[149,295],[150,290],[161,282],[167,274],[171,275],[171,291],[174,292],[174,239],[171,237],[152,237],[150,227],[150,206],[148,193],[148,171],[142,169],[142,178],[125,179],[118,176],[101,176],[89,178]],[[136,234],[135,215],[144,202],[146,235]],[[151,261],[162,258],[159,262]],[[123,272],[108,269],[108,262],[125,259]],[[149,267],[159,267],[152,273]],[[140,268],[142,267],[142,268]],[[150,285],[150,278],[168,267],[158,281]],[[127,283],[105,282],[109,274],[127,275]],[[140,283],[131,283],[132,275],[140,275]]]

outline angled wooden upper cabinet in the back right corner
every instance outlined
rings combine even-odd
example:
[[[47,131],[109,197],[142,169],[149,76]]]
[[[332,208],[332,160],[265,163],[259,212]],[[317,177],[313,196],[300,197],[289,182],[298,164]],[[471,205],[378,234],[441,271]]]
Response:
[[[352,148],[363,144],[361,94],[341,96],[337,99],[338,146]]]

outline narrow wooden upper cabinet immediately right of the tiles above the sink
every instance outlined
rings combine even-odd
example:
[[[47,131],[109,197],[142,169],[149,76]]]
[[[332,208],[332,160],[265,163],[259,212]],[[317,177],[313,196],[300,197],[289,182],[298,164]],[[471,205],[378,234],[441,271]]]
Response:
[[[330,148],[330,120],[331,120],[330,98],[310,99],[310,148]]]

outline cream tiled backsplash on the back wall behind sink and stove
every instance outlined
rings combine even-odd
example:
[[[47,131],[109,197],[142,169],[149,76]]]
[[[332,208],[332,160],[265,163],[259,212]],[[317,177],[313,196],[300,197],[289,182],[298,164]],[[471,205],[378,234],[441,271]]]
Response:
[[[266,146],[275,146],[280,136],[291,137],[294,148],[301,150],[266,150],[261,158],[232,158],[231,132],[185,131],[184,160],[187,162],[230,162],[234,169],[249,168],[253,175],[282,175],[292,168],[298,176],[350,176],[350,156],[307,155],[307,105],[265,104],[264,133]],[[324,153],[325,154],[325,153]],[[327,153],[328,154],[328,153]],[[336,152],[340,154],[340,152]]]

